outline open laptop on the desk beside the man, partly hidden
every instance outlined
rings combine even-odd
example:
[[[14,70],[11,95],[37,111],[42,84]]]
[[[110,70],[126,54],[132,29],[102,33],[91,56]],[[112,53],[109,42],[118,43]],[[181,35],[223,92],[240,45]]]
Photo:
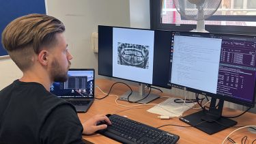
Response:
[[[73,104],[76,112],[85,113],[94,102],[94,69],[70,69],[68,81],[53,83],[50,91]]]

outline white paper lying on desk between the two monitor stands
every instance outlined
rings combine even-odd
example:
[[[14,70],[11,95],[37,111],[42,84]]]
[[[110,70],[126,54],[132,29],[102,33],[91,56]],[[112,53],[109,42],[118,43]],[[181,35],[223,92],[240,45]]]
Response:
[[[164,102],[161,102],[160,104],[152,107],[151,109],[148,109],[147,111],[159,115],[168,115],[169,117],[180,117],[185,111],[195,105],[195,103],[176,103],[174,102],[175,99],[176,98],[168,98]]]

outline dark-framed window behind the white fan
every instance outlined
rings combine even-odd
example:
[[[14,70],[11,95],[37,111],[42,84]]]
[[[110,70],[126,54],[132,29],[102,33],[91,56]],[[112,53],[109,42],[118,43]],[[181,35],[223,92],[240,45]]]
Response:
[[[197,22],[181,18],[173,0],[152,0],[150,4],[152,29],[195,29]],[[205,20],[205,29],[211,32],[255,34],[256,1],[222,0],[214,15]]]

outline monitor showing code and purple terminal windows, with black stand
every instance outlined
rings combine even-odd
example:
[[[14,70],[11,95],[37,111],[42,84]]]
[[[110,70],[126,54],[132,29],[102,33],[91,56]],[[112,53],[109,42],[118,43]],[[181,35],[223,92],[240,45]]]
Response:
[[[169,85],[212,97],[208,111],[180,120],[214,134],[237,124],[222,117],[225,100],[255,105],[255,35],[173,31],[170,51]]]

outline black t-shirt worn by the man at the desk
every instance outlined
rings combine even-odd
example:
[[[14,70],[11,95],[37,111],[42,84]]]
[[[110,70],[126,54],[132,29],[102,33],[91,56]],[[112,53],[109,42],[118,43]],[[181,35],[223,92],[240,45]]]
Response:
[[[14,81],[0,91],[0,143],[83,143],[74,106],[39,83]]]

